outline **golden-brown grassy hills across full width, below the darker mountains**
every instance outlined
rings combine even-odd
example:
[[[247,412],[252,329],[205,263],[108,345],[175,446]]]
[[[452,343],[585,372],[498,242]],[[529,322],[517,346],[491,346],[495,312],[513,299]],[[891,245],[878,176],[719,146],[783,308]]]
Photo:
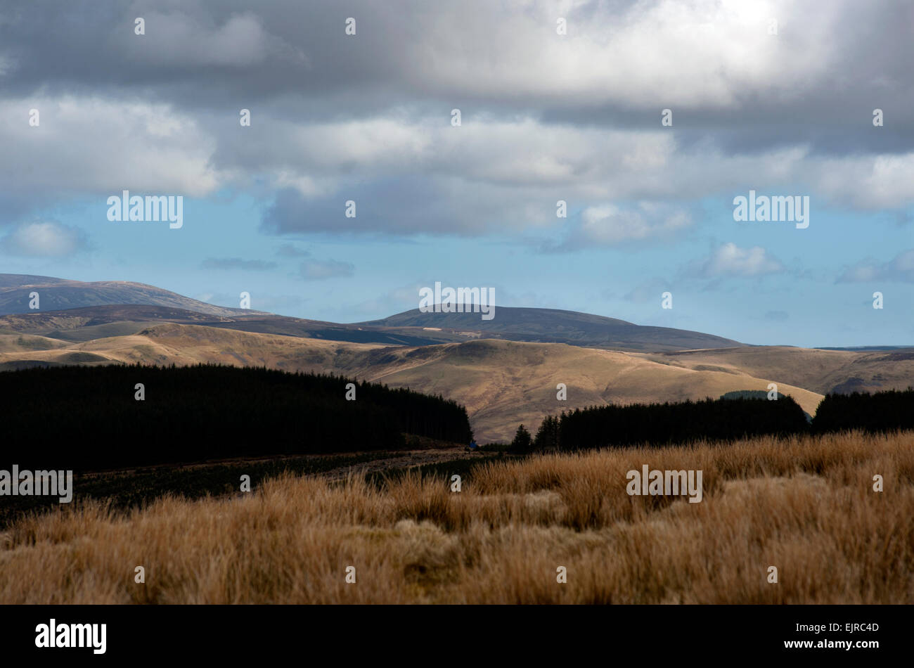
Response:
[[[8,316],[7,324],[23,316]],[[345,373],[442,394],[467,407],[481,441],[510,440],[521,422],[537,425],[562,409],[606,403],[716,398],[777,383],[813,415],[824,394],[854,385],[868,391],[904,389],[914,379],[909,351],[828,351],[787,346],[725,348],[665,354],[600,350],[562,344],[473,340],[430,346],[382,346],[181,323],[100,323],[48,313],[48,333],[99,333],[89,341],[50,334],[0,334],[0,369],[35,364],[105,362],[228,364],[289,371]],[[70,326],[72,325],[72,327]],[[111,328],[126,327],[132,334]],[[106,329],[107,328],[107,329]],[[558,383],[568,400],[556,398]]]

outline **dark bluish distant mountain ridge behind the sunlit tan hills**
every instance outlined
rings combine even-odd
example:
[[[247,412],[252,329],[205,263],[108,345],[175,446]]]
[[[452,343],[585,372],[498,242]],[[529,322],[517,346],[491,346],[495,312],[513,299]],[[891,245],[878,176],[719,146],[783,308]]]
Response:
[[[40,308],[29,309],[37,292]],[[436,345],[475,339],[556,343],[633,352],[739,347],[738,341],[672,327],[629,323],[590,313],[498,306],[481,313],[422,313],[419,309],[365,323],[327,323],[216,306],[131,281],[68,281],[0,274],[0,330],[49,334],[64,340],[130,334],[149,323],[197,323],[260,334],[380,345]],[[122,323],[118,326],[107,326]],[[135,327],[134,327],[135,325]],[[83,331],[76,332],[81,328]]]

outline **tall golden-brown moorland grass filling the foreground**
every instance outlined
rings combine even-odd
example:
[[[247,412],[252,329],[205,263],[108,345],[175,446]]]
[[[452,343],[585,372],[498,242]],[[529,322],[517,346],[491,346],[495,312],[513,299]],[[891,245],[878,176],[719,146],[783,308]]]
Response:
[[[703,470],[704,500],[629,496],[643,464]],[[93,501],[0,540],[0,603],[911,603],[914,433],[493,461],[460,493],[284,475],[129,512]]]

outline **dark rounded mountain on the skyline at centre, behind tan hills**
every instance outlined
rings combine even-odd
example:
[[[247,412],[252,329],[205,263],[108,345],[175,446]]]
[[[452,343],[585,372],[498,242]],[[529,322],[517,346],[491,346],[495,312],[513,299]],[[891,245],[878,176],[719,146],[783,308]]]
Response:
[[[741,346],[739,341],[671,327],[628,323],[602,315],[498,306],[492,320],[481,313],[422,313],[419,309],[383,320],[356,323],[362,327],[440,328],[442,332],[508,341],[561,343],[616,350],[691,350]]]

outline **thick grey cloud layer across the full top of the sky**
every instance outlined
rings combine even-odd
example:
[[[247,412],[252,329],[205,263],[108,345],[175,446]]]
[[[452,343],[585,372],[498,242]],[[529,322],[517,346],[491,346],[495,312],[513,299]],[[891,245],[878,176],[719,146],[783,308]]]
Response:
[[[703,5],[695,3],[694,14],[707,20]],[[0,87],[16,96],[36,90],[139,96],[195,111],[254,107],[305,122],[450,102],[496,115],[532,113],[544,122],[637,131],[654,130],[660,111],[671,108],[686,145],[710,136],[728,152],[778,143],[811,143],[815,151],[839,154],[908,150],[914,141],[914,88],[908,85],[914,5],[881,3],[866,11],[853,3],[813,5],[784,5],[778,35],[766,35],[769,43],[760,41],[757,54],[749,45],[746,53],[728,52],[726,40],[734,37],[726,24],[715,27],[724,46],[707,62],[722,71],[706,74],[720,90],[701,80],[704,61],[681,65],[677,60],[691,52],[670,44],[667,62],[654,72],[657,85],[645,92],[603,88],[600,77],[562,90],[562,75],[594,66],[583,60],[554,62],[552,71],[538,71],[537,82],[544,63],[522,58],[536,51],[537,41],[555,41],[553,29],[533,20],[534,14],[551,18],[552,9],[523,16],[482,0],[462,3],[459,11],[368,0],[345,6],[14,1],[0,10],[0,53],[7,63]],[[598,55],[600,44],[626,24],[655,21],[644,16],[651,6],[587,3],[568,12],[569,37],[588,38]],[[133,34],[136,16],[146,21],[142,37]],[[344,35],[347,16],[356,17],[356,37]],[[662,19],[663,11],[656,16]],[[647,48],[648,37],[626,46]],[[664,37],[661,25],[656,38]],[[613,69],[632,69],[643,53],[629,56],[631,63]],[[771,67],[745,63],[753,59],[770,60]],[[663,71],[677,68],[696,78],[694,93],[664,88]],[[503,85],[488,83],[486,70]],[[878,131],[871,122],[875,108],[886,113]]]

